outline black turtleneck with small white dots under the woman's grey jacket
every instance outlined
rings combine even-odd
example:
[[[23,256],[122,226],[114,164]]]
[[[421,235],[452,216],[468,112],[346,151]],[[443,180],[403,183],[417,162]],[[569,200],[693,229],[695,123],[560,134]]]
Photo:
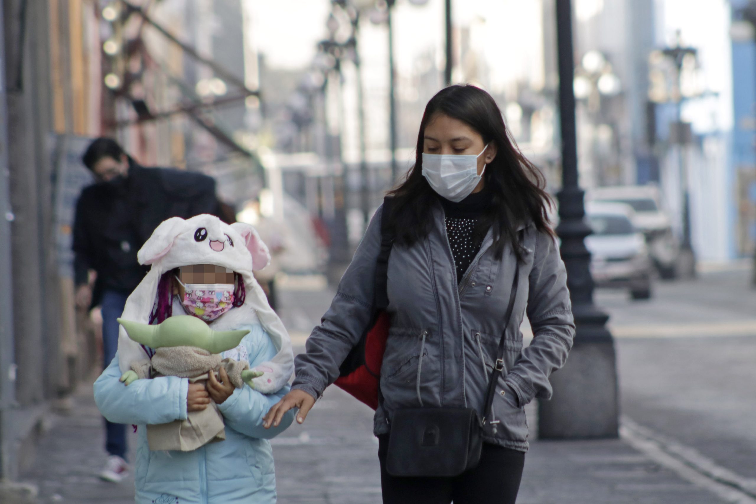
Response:
[[[444,207],[446,235],[454,255],[457,269],[457,283],[462,281],[472,259],[478,255],[483,243],[483,236],[475,236],[476,224],[485,209],[491,204],[491,191],[485,187],[478,193],[472,193],[459,203],[449,201],[442,196],[438,200]]]

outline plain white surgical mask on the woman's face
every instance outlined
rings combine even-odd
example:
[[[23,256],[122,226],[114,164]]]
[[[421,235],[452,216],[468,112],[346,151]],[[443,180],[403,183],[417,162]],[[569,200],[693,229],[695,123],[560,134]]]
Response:
[[[483,171],[478,175],[478,158],[485,153],[488,145],[477,156],[423,153],[423,177],[439,196],[460,202],[475,190],[485,173],[483,166]]]

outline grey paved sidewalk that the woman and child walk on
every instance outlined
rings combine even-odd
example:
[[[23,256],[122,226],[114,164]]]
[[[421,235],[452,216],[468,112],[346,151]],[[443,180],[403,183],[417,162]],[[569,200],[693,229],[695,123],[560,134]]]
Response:
[[[332,293],[322,289],[281,292],[282,318],[295,334],[319,320]],[[310,326],[311,328],[311,326]],[[301,338],[295,342],[301,343]],[[301,344],[295,351],[303,351]],[[528,406],[531,426],[536,409]],[[279,502],[283,504],[378,504],[380,474],[373,412],[338,388],[329,388],[304,425],[293,425],[273,441]],[[535,434],[531,434],[531,439]],[[131,459],[135,435],[129,429]],[[37,448],[36,462],[21,481],[38,489],[36,499],[8,502],[133,502],[133,480],[99,481],[106,459],[104,426],[91,394],[81,386],[73,407],[54,413]],[[646,452],[647,453],[647,452]],[[525,456],[519,504],[714,504],[735,502],[683,479],[626,439],[531,441]],[[682,474],[682,473],[680,473]],[[2,490],[0,490],[2,491]],[[721,493],[720,493],[721,495]],[[740,501],[746,502],[746,501]]]

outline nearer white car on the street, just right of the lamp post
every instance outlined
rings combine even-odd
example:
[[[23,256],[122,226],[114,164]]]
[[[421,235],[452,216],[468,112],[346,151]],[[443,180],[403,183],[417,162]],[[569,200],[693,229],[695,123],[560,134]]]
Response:
[[[633,214],[631,206],[621,203],[587,203],[586,218],[593,234],[586,237],[585,246],[597,287],[628,289],[633,299],[648,299],[654,267]]]

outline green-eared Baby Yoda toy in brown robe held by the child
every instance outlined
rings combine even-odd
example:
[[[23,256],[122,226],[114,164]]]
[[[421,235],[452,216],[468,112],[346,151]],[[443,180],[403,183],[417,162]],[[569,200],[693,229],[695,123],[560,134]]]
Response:
[[[234,387],[241,388],[252,379],[262,376],[261,371],[253,371],[249,363],[233,359],[222,359],[223,351],[236,348],[249,330],[213,331],[206,323],[191,315],[170,317],[156,326],[118,319],[129,338],[155,349],[150,363],[150,376],[138,376],[133,370],[121,377],[125,385],[137,378],[156,376],[179,376],[192,383],[203,383],[209,373],[226,369],[228,379]],[[223,441],[225,426],[223,416],[215,403],[202,411],[191,411],[186,420],[175,420],[167,424],[147,425],[147,443],[150,450],[191,451],[207,443]]]

